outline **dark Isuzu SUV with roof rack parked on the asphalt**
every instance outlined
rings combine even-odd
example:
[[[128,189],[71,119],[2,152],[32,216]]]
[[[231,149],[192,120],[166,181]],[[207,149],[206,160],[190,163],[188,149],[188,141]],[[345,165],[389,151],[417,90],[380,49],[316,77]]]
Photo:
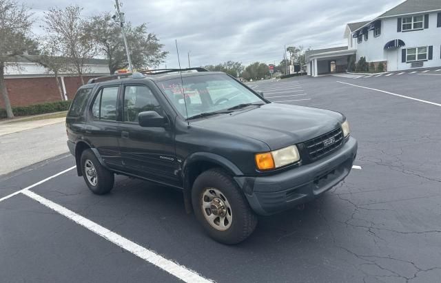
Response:
[[[313,200],[351,171],[357,142],[338,112],[270,103],[221,72],[155,70],[94,78],[66,119],[90,190],[114,174],[183,190],[207,233],[245,240],[257,214]]]

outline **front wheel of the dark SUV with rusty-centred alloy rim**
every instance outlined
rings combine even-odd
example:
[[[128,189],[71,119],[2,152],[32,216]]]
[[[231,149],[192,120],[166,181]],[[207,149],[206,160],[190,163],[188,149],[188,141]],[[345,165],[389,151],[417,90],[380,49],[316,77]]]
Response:
[[[238,244],[256,229],[256,214],[233,178],[222,169],[209,169],[196,178],[192,205],[208,235],[223,244]]]

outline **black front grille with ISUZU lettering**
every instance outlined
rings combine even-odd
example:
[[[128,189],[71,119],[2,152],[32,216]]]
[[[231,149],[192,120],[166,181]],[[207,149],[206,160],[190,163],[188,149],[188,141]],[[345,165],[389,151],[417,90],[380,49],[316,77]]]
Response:
[[[334,140],[334,142],[332,142]],[[326,143],[326,144],[325,144]],[[305,142],[305,148],[308,151],[309,158],[311,160],[317,160],[318,158],[329,154],[330,152],[338,149],[343,143],[343,132],[339,127],[327,134],[318,136]]]

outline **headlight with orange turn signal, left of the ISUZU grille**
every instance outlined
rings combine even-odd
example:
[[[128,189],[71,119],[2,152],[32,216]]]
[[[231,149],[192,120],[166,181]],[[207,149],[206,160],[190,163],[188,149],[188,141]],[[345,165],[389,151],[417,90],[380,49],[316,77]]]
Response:
[[[259,170],[270,170],[295,163],[300,160],[297,147],[291,145],[283,149],[256,154],[256,165]]]

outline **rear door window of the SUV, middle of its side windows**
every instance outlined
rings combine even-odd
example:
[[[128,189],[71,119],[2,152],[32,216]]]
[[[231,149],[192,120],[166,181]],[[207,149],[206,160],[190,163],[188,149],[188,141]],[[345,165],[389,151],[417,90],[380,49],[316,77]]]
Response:
[[[94,118],[116,121],[116,101],[119,87],[103,87],[96,96],[92,106]]]

